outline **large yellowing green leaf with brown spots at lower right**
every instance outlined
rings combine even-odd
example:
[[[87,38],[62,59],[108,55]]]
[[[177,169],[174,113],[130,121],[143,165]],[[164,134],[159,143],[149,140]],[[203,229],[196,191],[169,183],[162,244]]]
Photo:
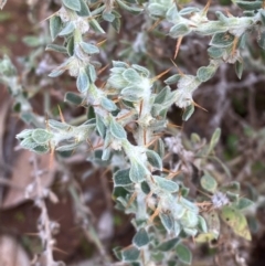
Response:
[[[245,216],[236,209],[224,206],[221,210],[222,220],[229,224],[235,234],[251,241],[252,236]]]

